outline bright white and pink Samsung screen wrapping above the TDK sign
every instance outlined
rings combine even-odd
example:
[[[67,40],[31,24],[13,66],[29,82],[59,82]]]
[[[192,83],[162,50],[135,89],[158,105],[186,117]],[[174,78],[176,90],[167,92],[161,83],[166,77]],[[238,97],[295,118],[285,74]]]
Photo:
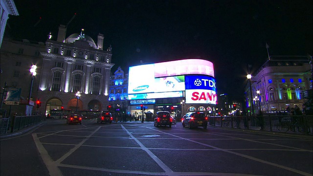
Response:
[[[213,64],[201,59],[184,59],[131,66],[129,67],[128,99],[182,97],[182,92],[186,89],[184,75],[188,74],[214,76]],[[209,77],[201,77],[201,79],[207,78]],[[191,79],[193,78],[190,77]]]

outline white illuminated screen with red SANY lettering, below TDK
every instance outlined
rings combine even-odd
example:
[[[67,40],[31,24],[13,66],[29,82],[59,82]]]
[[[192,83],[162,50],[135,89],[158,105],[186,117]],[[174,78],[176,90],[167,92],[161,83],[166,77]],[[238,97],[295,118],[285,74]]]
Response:
[[[186,103],[216,104],[217,95],[213,90],[187,89],[185,91]]]

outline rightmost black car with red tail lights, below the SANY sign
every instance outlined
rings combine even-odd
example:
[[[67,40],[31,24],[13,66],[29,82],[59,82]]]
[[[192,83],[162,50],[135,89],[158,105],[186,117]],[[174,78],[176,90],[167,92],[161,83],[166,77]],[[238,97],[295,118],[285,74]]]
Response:
[[[182,126],[188,126],[189,129],[194,127],[203,127],[203,129],[206,129],[207,117],[203,112],[193,112],[190,114],[190,117],[184,118]]]

